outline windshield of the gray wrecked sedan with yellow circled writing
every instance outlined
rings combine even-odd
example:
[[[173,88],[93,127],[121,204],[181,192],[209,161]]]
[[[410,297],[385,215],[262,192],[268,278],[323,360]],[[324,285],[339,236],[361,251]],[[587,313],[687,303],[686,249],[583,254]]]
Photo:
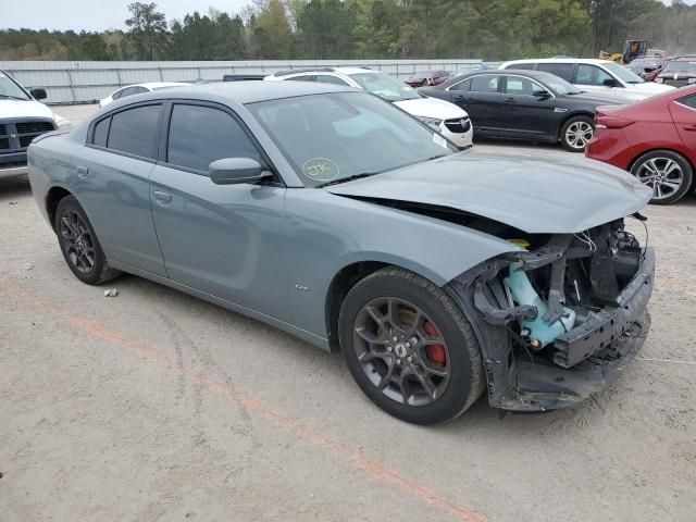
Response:
[[[246,107],[310,187],[457,151],[425,124],[365,92],[300,96]]]

